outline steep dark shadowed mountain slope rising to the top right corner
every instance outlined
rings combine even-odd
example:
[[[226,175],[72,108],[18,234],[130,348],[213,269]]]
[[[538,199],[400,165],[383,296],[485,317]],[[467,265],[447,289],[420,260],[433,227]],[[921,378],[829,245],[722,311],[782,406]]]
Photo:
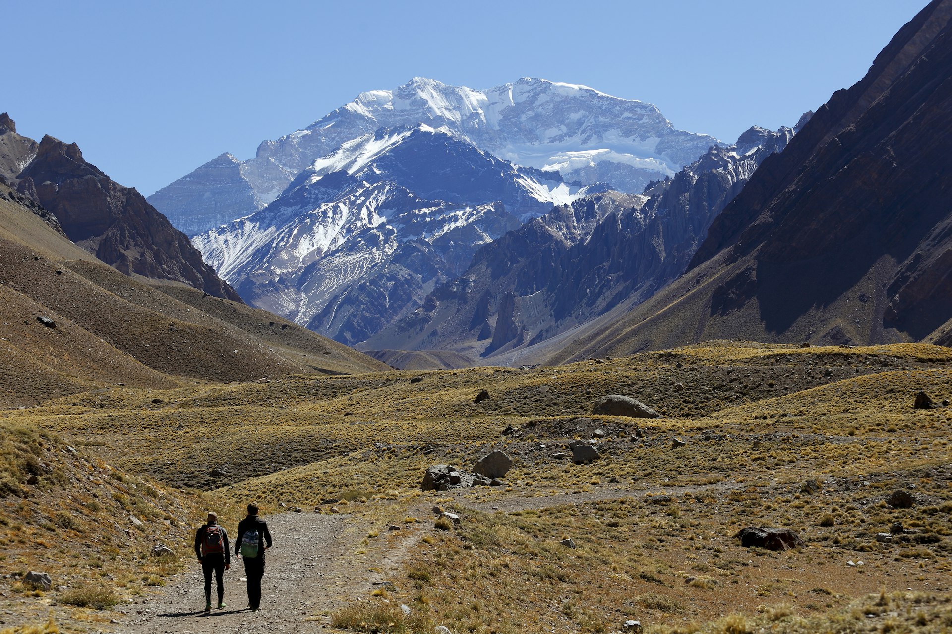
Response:
[[[952,318],[950,77],[952,2],[936,0],[764,161],[682,279],[553,360],[723,336],[942,338]]]

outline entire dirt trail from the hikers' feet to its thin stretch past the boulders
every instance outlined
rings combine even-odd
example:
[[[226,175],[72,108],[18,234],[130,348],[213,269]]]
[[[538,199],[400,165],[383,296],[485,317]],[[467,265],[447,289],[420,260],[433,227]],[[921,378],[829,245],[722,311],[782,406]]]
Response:
[[[481,501],[472,499],[473,490],[446,493],[460,507],[488,512],[525,509],[544,509],[565,504],[584,504],[594,500],[623,497],[644,498],[666,493],[672,496],[685,492],[712,490],[724,494],[742,489],[746,483],[722,482],[713,485],[652,487],[630,490],[612,488],[584,493],[557,493],[538,497],[511,495]],[[408,509],[424,518],[430,507],[422,501]],[[149,634],[212,634],[236,632],[269,634],[284,632],[318,632],[325,629],[328,619],[315,617],[325,610],[344,605],[354,596],[366,596],[374,582],[387,581],[403,564],[409,551],[429,531],[421,529],[389,545],[383,551],[377,566],[355,566],[352,552],[363,535],[361,531],[345,530],[347,515],[285,512],[267,517],[274,536],[274,548],[268,550],[268,565],[262,583],[264,596],[260,612],[248,610],[244,565],[232,558],[232,567],[225,573],[225,603],[222,610],[202,611],[205,605],[203,578],[197,562],[169,580],[158,596],[129,605],[117,614],[118,632]],[[406,531],[404,531],[406,532]],[[351,543],[353,542],[353,543]],[[215,588],[212,585],[212,600]]]

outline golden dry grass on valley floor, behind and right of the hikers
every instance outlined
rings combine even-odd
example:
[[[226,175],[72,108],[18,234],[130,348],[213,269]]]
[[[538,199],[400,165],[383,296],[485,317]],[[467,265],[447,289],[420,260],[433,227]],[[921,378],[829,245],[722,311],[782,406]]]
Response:
[[[349,628],[405,603],[454,632],[612,631],[628,618],[659,632],[758,631],[766,623],[799,632],[808,631],[803,623],[841,619],[855,598],[881,588],[899,597],[906,587],[938,592],[922,608],[932,624],[944,618],[933,613],[946,609],[952,572],[952,422],[948,410],[911,406],[918,390],[950,397],[950,361],[948,349],[913,344],[711,342],[526,371],[112,389],[8,420],[86,443],[124,470],[212,490],[193,504],[255,499],[346,510],[362,518],[353,555],[362,566],[422,531],[407,542],[396,589],[368,590],[366,605],[348,608],[357,619]],[[424,380],[410,383],[414,376]],[[491,398],[472,403],[482,389]],[[665,417],[591,416],[603,394],[632,395]],[[507,426],[516,431],[503,435]],[[555,457],[595,429],[605,432],[602,459]],[[634,435],[639,429],[644,437]],[[674,436],[687,445],[672,449]],[[243,461],[248,443],[260,451]],[[418,490],[427,465],[468,469],[492,449],[516,459],[507,487]],[[226,475],[212,477],[216,467]],[[807,479],[821,490],[804,492]],[[886,507],[889,493],[910,486],[915,507]],[[134,508],[135,491],[122,494]],[[399,537],[383,534],[387,523],[423,518],[433,504],[462,512],[462,524],[438,530],[423,519],[405,522]],[[69,530],[82,528],[79,520]],[[895,523],[908,532],[877,541]],[[740,548],[730,536],[749,525],[794,528],[808,546]],[[561,546],[566,536],[578,548]],[[150,573],[138,574],[141,587]],[[917,618],[896,617],[897,631]]]

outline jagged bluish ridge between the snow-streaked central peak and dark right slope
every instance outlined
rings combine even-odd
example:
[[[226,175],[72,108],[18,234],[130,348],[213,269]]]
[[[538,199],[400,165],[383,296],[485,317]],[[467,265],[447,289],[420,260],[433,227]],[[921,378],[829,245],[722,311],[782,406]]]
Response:
[[[650,297],[686,267],[710,222],[794,130],[752,127],[642,195],[587,196],[481,247],[469,269],[368,349],[511,354]]]

